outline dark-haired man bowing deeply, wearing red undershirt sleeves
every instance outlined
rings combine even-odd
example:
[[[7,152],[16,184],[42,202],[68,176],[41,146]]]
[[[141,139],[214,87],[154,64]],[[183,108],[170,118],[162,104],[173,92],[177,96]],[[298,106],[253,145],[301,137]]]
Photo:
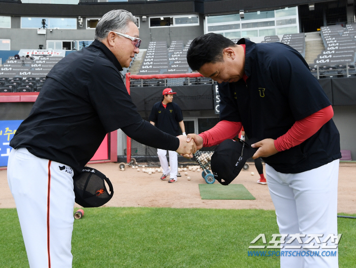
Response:
[[[281,238],[281,267],[337,268],[337,254],[323,256],[321,246],[337,251],[340,135],[331,103],[303,56],[282,43],[242,38],[235,44],[211,33],[193,40],[187,59],[192,70],[219,83],[221,100],[220,122],[187,140],[198,149],[212,146],[244,126],[248,137],[260,140],[252,144],[258,148],[253,158],[265,162],[279,231],[289,235]],[[291,240],[299,234],[302,243]]]

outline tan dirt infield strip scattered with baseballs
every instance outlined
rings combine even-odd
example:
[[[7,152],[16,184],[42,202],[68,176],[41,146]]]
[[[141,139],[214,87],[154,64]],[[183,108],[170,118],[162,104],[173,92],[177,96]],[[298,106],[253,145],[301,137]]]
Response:
[[[274,210],[268,187],[257,184],[257,171],[250,163],[248,171],[242,171],[233,184],[243,184],[256,200],[202,200],[198,184],[205,184],[201,172],[187,171],[178,182],[161,181],[162,173],[149,175],[127,167],[118,169],[117,163],[88,165],[104,173],[113,184],[114,196],[105,206],[151,206],[151,207],[203,207],[214,209],[263,209]],[[142,169],[140,167],[140,169]],[[255,175],[251,175],[251,172]],[[356,213],[356,163],[340,163],[338,187],[338,212]],[[218,183],[218,182],[215,182]],[[0,170],[0,208],[15,207],[7,183],[7,171]]]

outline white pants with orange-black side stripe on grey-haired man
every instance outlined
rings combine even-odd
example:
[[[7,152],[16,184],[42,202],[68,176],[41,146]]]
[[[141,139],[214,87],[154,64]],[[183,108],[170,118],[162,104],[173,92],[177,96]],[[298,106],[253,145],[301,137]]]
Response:
[[[8,183],[31,268],[72,267],[73,170],[13,149]]]

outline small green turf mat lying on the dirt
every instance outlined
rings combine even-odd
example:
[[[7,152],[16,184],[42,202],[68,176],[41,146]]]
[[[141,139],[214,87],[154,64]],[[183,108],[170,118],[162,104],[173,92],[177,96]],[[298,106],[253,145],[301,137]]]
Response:
[[[199,184],[201,199],[255,200],[242,184]]]

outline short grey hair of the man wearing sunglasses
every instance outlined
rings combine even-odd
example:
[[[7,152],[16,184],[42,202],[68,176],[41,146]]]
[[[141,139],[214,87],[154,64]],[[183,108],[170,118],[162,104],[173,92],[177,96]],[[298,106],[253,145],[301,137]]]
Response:
[[[110,31],[126,34],[128,32],[128,24],[130,21],[137,25],[136,17],[130,12],[123,9],[111,10],[104,14],[99,20],[95,28],[94,38],[101,41],[107,37]]]

